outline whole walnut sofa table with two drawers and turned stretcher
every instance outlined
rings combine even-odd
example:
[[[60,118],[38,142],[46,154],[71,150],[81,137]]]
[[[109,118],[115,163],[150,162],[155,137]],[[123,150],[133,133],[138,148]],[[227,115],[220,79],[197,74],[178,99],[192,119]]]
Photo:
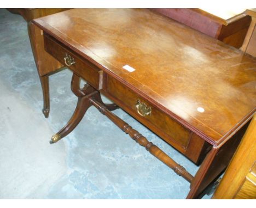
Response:
[[[94,106],[190,182],[188,199],[200,198],[226,168],[255,112],[255,58],[153,11],[71,9],[33,20],[30,34],[37,65],[73,71],[77,107],[51,143]],[[196,175],[113,114],[117,106],[100,94],[201,164]]]

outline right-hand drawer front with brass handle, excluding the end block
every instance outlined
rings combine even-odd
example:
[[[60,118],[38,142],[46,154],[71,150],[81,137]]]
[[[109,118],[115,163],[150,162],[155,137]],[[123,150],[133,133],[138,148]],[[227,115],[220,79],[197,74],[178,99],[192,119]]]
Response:
[[[139,95],[110,76],[107,79],[107,94],[119,105],[121,102],[121,106],[129,108],[131,112],[133,112],[129,113],[137,115],[135,117],[141,121],[141,123],[148,126],[149,129],[154,129],[153,131],[159,134],[166,142],[185,153],[191,135],[190,130],[185,129],[181,124],[150,105]],[[152,126],[154,127],[152,128]]]

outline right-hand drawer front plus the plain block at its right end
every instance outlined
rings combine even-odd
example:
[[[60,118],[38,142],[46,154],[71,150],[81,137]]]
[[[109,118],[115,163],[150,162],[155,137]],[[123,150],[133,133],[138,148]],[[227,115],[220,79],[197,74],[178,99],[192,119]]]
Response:
[[[205,140],[150,105],[117,79],[108,76],[102,92],[194,163],[200,164],[210,150],[211,145]]]

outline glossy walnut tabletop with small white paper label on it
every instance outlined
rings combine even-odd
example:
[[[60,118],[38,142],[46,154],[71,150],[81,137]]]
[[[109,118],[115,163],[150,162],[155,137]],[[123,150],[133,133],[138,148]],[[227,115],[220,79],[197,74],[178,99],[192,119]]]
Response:
[[[72,9],[33,22],[214,146],[255,112],[255,58],[153,11]]]

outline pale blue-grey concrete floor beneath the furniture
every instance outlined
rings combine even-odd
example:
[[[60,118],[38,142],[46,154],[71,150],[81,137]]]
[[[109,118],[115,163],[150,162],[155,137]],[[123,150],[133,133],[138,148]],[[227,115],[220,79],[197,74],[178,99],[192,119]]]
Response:
[[[184,199],[187,196],[187,181],[93,107],[71,134],[50,145],[51,136],[66,124],[77,102],[70,89],[72,72],[66,69],[50,76],[51,109],[45,119],[27,23],[5,9],[0,9],[0,44],[1,199]],[[114,113],[190,173],[196,173],[195,164],[129,114],[121,109]]]

